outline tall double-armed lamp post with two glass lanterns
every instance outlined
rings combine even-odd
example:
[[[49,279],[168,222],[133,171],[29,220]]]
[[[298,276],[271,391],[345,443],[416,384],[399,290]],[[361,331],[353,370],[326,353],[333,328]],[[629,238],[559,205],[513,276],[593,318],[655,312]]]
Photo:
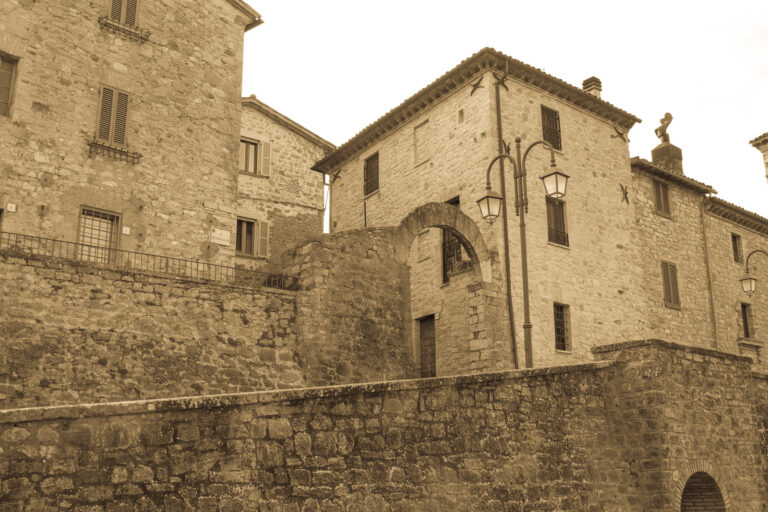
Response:
[[[477,204],[480,207],[480,213],[483,218],[488,221],[489,224],[493,224],[493,221],[499,216],[501,210],[501,204],[504,201],[504,196],[495,192],[491,188],[491,169],[493,164],[501,160],[509,160],[512,162],[512,166],[515,168],[514,180],[515,180],[515,214],[520,217],[520,252],[522,257],[523,267],[523,348],[525,350],[525,367],[533,367],[533,344],[531,341],[531,309],[528,300],[528,249],[526,246],[525,238],[525,214],[528,212],[528,188],[526,185],[526,176],[528,172],[525,168],[525,162],[528,159],[528,153],[539,144],[543,144],[544,147],[549,149],[550,153],[550,167],[552,172],[545,176],[541,176],[544,182],[544,188],[546,189],[546,195],[553,199],[560,199],[565,196],[565,187],[568,184],[568,176],[557,170],[555,164],[555,150],[552,146],[544,140],[539,140],[532,143],[522,153],[520,143],[522,139],[517,137],[515,139],[516,157],[513,159],[508,153],[502,153],[497,155],[488,164],[488,170],[485,174],[485,196],[478,199]],[[522,154],[522,156],[521,156]],[[501,167],[499,171],[501,171]],[[509,248],[507,247],[507,254]],[[509,261],[507,261],[509,265]],[[510,318],[510,322],[512,319]]]

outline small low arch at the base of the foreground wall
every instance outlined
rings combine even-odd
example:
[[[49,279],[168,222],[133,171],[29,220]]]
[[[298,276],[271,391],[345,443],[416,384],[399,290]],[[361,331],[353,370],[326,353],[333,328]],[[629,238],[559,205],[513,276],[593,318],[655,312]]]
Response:
[[[708,462],[687,464],[679,474],[675,488],[674,512],[726,512],[730,509],[728,495],[717,483],[722,482]]]

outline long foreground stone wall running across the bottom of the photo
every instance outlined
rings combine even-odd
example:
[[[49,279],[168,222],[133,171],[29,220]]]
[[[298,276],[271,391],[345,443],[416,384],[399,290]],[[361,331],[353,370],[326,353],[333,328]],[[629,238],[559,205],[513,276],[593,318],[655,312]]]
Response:
[[[763,381],[746,359],[658,341],[600,354],[611,360],[1,411],[0,503],[668,512],[679,483],[707,471],[729,511],[760,510],[765,418],[752,393]]]

